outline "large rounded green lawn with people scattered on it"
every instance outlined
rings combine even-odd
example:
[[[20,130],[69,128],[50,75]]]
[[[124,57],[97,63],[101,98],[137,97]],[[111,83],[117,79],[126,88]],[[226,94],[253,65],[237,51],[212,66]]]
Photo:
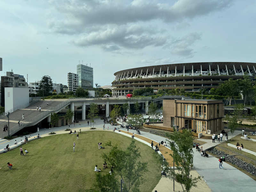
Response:
[[[19,148],[1,154],[1,191],[88,191],[93,187],[95,165],[102,169],[100,156],[109,150],[107,146],[98,149],[97,143],[109,140],[122,148],[131,142],[131,138],[114,132],[86,131],[79,133],[79,140],[75,134],[60,134],[30,141],[22,145],[23,151],[29,151],[27,156],[20,156]],[[74,141],[76,152],[73,152]],[[141,161],[148,162],[140,190],[151,192],[161,178],[161,164],[156,162],[156,153],[150,147],[139,141],[135,143],[140,148]],[[7,162],[13,164],[12,170]],[[102,169],[102,174],[109,171]]]

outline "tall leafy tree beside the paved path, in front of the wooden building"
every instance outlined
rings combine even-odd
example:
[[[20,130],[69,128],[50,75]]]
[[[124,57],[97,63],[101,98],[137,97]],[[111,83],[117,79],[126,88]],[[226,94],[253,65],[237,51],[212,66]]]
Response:
[[[174,159],[178,172],[173,172],[169,165],[164,165],[164,171],[169,178],[174,179],[173,176],[180,182],[183,191],[189,192],[192,187],[196,187],[196,183],[201,180],[201,177],[192,178],[190,170],[193,164],[193,140],[192,134],[189,130],[184,129],[181,132],[173,132],[166,134],[168,142],[173,153],[169,154]],[[174,141],[174,144],[172,143]],[[165,161],[165,164],[168,164]],[[185,189],[184,189],[184,187]]]

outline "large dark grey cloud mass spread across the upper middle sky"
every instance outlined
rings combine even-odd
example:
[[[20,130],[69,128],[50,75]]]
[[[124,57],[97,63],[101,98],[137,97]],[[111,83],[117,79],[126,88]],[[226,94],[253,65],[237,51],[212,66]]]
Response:
[[[195,43],[200,38],[187,36],[172,42],[170,31],[166,29],[168,25],[180,23],[179,30],[189,26],[188,19],[220,11],[232,4],[232,0],[177,0],[174,4],[146,0],[49,2],[50,31],[72,36],[77,46],[100,45],[105,51],[162,46],[171,47],[171,52],[177,55],[192,55],[189,42]],[[170,46],[170,41],[176,47]]]

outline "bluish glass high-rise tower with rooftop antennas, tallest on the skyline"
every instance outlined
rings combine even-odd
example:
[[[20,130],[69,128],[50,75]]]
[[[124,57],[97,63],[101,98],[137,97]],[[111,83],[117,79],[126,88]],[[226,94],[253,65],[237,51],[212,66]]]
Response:
[[[76,66],[79,86],[86,89],[93,87],[93,68],[86,65],[78,64]]]

